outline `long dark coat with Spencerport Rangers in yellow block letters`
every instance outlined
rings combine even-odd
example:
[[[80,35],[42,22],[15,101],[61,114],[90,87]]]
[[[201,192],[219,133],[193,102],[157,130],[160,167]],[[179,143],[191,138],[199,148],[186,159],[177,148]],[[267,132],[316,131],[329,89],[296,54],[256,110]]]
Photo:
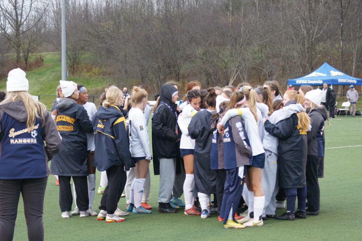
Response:
[[[71,98],[57,103],[56,128],[62,136],[62,148],[50,163],[50,171],[59,176],[88,176],[86,132],[93,132],[87,111]]]

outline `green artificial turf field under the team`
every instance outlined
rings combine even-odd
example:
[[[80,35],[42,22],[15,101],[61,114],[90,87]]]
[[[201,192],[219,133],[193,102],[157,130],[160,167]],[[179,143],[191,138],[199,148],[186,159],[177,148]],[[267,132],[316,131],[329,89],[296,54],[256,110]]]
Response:
[[[151,125],[148,128],[151,134]],[[331,125],[325,126],[326,148],[362,145],[361,129],[361,116],[331,119]],[[131,213],[121,223],[105,223],[97,221],[96,217],[63,219],[59,186],[51,175],[44,202],[45,240],[361,240],[361,151],[362,146],[325,150],[325,177],[319,179],[321,210],[318,216],[295,221],[269,219],[262,227],[245,229],[223,228],[216,213],[207,219],[186,216],[182,209],[176,214],[158,213],[159,176],[153,176],[152,164],[149,201],[152,214]],[[100,172],[97,171],[96,190],[99,182]],[[101,197],[96,193],[93,204],[96,211]],[[118,206],[126,211],[126,199],[121,198]],[[278,209],[277,213],[284,211]],[[14,240],[27,240],[26,230],[20,199]]]

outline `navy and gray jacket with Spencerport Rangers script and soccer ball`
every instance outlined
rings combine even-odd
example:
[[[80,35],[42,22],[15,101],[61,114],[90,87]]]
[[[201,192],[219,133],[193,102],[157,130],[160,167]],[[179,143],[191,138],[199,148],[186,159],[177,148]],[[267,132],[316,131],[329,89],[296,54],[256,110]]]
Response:
[[[49,112],[35,120],[28,132],[22,100],[0,105],[0,179],[42,178],[50,174],[48,161],[62,144]],[[44,142],[46,145],[44,146]]]

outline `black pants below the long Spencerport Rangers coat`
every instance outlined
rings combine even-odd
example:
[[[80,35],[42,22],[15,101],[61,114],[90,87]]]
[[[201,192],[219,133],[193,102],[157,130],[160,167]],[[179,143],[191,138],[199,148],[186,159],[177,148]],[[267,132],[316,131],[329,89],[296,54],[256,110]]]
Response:
[[[62,212],[71,211],[73,196],[72,188],[70,185],[71,176],[58,176],[59,177],[59,206]],[[73,177],[75,185],[75,193],[77,194],[77,207],[79,211],[88,210],[89,196],[88,196],[88,179],[87,176]]]

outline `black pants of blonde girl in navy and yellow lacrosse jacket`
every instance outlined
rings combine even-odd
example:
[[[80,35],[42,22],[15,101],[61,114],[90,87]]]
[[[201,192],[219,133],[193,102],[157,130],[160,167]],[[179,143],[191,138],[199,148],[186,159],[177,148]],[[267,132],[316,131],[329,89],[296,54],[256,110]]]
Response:
[[[113,165],[106,170],[108,185],[104,189],[99,210],[106,210],[108,214],[114,214],[117,204],[125,188],[127,175],[124,166]]]

